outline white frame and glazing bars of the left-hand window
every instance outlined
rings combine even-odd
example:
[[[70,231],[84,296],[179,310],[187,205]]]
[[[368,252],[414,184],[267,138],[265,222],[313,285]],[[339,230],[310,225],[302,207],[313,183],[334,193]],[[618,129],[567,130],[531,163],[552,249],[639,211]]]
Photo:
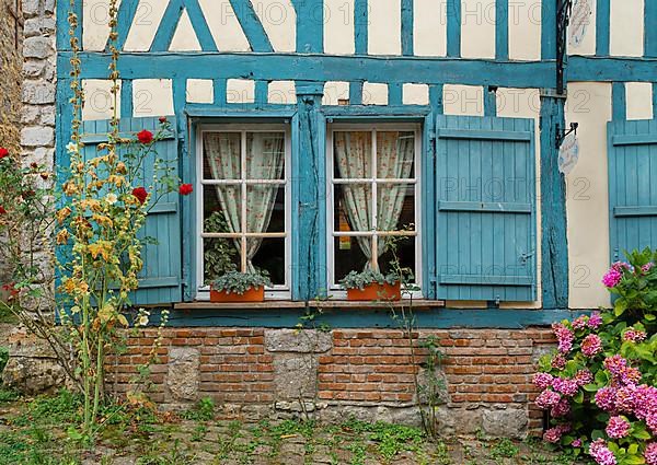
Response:
[[[284,178],[277,179],[273,184],[280,184],[285,186],[285,232],[284,233],[263,233],[256,234],[254,236],[264,237],[264,239],[281,239],[285,237],[285,284],[275,284],[272,288],[265,288],[265,299],[269,300],[289,300],[291,298],[291,201],[292,201],[292,188],[290,185],[290,173],[291,173],[291,153],[292,153],[292,140],[291,140],[291,128],[289,124],[208,124],[201,125],[198,127],[196,131],[196,186],[195,190],[197,194],[196,201],[196,277],[197,277],[197,290],[196,290],[196,300],[198,301],[208,301],[210,299],[210,288],[209,286],[204,286],[204,237],[227,237],[228,235],[221,234],[211,234],[203,232],[203,223],[204,223],[204,211],[203,211],[203,201],[204,201],[204,188],[205,186],[212,186],[218,184],[237,184],[234,182],[222,183],[221,179],[205,179],[204,178],[204,147],[203,140],[204,136],[208,132],[240,132],[241,133],[241,166],[242,170],[245,168],[245,155],[246,155],[246,132],[284,132],[285,133],[285,167],[284,167]],[[285,184],[284,184],[285,183]],[[262,181],[254,182],[245,182],[241,179],[239,185],[257,185],[263,184]],[[244,193],[244,189],[243,189]],[[244,195],[244,194],[242,194]],[[244,221],[244,219],[242,219]],[[235,236],[239,235],[241,237],[249,237],[249,233],[242,231],[241,233],[237,233]],[[243,259],[242,252],[240,253],[240,259]]]

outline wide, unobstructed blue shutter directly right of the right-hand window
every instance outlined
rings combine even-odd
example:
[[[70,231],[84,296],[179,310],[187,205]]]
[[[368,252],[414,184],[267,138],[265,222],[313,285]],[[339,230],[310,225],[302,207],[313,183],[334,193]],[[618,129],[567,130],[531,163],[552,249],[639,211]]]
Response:
[[[437,117],[438,299],[535,300],[534,125]]]

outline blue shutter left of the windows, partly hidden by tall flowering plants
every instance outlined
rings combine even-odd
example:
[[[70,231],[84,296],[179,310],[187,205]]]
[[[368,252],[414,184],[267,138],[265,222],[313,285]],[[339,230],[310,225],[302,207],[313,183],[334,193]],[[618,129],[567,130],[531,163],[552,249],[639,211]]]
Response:
[[[142,129],[155,133],[160,124],[158,118],[122,118],[122,137],[135,138]],[[110,121],[84,121],[82,141],[84,156],[96,156],[96,146],[107,141]],[[178,168],[178,140],[175,127],[157,142],[159,159],[171,162]],[[142,164],[142,185],[152,184],[155,156],[147,156]],[[176,173],[173,173],[174,175]],[[155,197],[154,195],[151,197]],[[141,251],[143,269],[139,276],[139,289],[130,297],[135,305],[170,304],[182,301],[182,239],[180,195],[171,193],[152,206],[146,224],[139,232],[140,237],[152,237],[155,244],[147,243]]]

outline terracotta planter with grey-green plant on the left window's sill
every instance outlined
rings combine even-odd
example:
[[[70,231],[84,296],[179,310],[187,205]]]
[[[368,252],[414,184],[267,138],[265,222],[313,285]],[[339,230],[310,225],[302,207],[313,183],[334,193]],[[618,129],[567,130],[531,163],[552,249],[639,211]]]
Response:
[[[210,282],[210,302],[263,302],[265,286],[272,286],[265,271],[228,271]]]

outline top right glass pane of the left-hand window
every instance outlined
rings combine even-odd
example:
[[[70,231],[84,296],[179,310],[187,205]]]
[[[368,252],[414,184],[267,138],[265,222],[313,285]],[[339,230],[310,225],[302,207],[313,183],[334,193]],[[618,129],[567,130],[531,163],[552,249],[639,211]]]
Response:
[[[285,132],[246,132],[246,178],[283,179]]]

